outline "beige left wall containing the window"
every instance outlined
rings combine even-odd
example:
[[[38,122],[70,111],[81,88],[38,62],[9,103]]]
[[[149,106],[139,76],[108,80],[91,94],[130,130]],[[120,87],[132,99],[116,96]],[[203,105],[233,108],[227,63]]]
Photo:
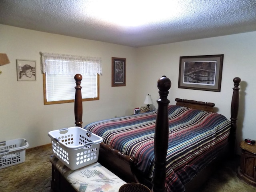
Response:
[[[0,141],[26,138],[30,147],[50,143],[48,132],[74,126],[74,103],[44,105],[39,52],[102,58],[100,100],[83,102],[83,125],[130,115],[135,108],[135,48],[0,24]],[[111,87],[111,57],[126,58],[126,86]],[[36,60],[36,82],[18,82],[16,59]]]

